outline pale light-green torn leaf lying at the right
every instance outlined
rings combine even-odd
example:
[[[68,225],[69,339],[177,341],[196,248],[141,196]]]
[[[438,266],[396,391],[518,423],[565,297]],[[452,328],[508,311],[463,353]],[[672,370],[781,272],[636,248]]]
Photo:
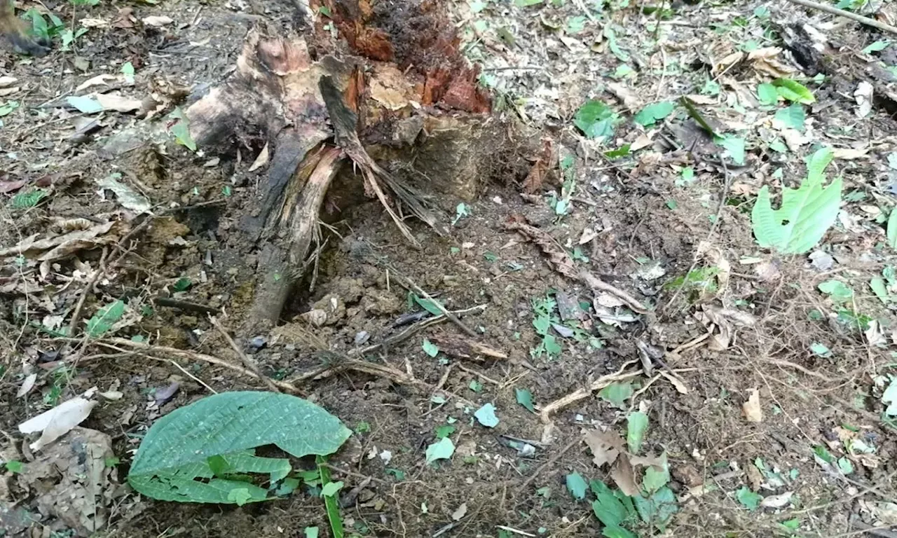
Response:
[[[769,187],[762,187],[753,204],[753,235],[761,247],[781,254],[803,254],[823,239],[838,218],[841,179],[823,187],[825,167],[832,162],[830,148],[815,152],[807,161],[807,176],[795,189],[782,189],[782,204],[773,210]]]

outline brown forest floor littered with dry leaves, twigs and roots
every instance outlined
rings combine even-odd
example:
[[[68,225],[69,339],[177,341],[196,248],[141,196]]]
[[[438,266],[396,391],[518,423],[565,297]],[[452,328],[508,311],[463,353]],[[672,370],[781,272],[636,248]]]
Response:
[[[239,326],[242,275],[256,258],[231,231],[266,168],[251,169],[261,149],[251,144],[126,163],[100,149],[166,121],[171,96],[220,82],[250,27],[294,32],[292,5],[22,8],[43,13],[54,48],[0,53],[0,535],[82,535],[100,512],[98,536],[332,535],[313,484],[242,507],[157,501],[123,485],[160,416],[210,391],[266,389],[191,358],[239,361],[204,312],[151,300],[206,305]],[[893,536],[897,39],[784,1],[448,10],[493,114],[554,154],[527,155],[544,182],[524,193],[524,177],[496,163],[475,200],[440,200],[448,235],[409,221],[421,249],[377,201],[344,211],[313,282],[288,305],[295,317],[238,340],[284,382],[320,366],[316,346],[385,342],[407,328],[396,319],[421,310],[388,260],[446,308],[469,310],[463,323],[501,356],[464,352],[470,337],[457,325],[424,324],[366,356],[415,384],[358,371],[304,378],[301,395],[353,430],[331,465],[346,535]],[[893,23],[897,5],[878,17]],[[117,95],[121,110],[85,113],[68,99],[94,91]],[[147,99],[159,113],[135,115]],[[808,211],[832,227],[796,255],[761,247],[761,187],[778,206],[823,147],[839,201],[834,213],[822,202]],[[123,241],[117,230],[144,201],[152,226]],[[531,228],[513,225],[523,221]],[[65,230],[83,235],[13,247]],[[580,271],[634,302],[570,278]],[[119,303],[109,331],[82,335]],[[309,311],[326,313],[311,329]],[[81,427],[108,436],[114,456],[85,485],[31,454],[18,424],[94,386],[99,403]],[[543,412],[577,391],[585,397]],[[446,438],[453,452],[433,461],[428,447]],[[79,480],[90,506],[66,490]],[[623,498],[637,498],[635,509]],[[615,529],[607,511],[619,507]]]

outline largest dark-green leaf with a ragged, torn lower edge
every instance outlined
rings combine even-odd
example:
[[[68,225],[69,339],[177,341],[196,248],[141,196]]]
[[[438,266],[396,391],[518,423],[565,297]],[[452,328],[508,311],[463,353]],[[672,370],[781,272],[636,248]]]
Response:
[[[296,396],[251,391],[211,395],[152,425],[127,482],[152,499],[257,502],[269,499],[267,490],[214,478],[209,458],[222,456],[233,472],[285,476],[286,460],[257,457],[251,449],[275,445],[294,457],[327,455],[350,435],[352,431],[335,416]],[[231,496],[239,489],[246,491]]]

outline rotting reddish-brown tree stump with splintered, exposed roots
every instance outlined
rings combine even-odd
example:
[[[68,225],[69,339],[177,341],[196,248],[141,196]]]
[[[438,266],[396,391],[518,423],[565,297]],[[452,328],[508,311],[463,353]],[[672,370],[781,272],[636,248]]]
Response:
[[[473,199],[507,151],[509,126],[492,117],[444,13],[391,5],[378,14],[365,0],[329,2],[347,45],[320,22],[295,39],[250,32],[234,73],[186,110],[199,147],[228,152],[252,137],[270,148],[257,207],[240,221],[259,251],[244,336],[281,317],[318,251],[318,213],[337,175],[352,174],[416,246],[405,215],[443,233],[440,196]]]

